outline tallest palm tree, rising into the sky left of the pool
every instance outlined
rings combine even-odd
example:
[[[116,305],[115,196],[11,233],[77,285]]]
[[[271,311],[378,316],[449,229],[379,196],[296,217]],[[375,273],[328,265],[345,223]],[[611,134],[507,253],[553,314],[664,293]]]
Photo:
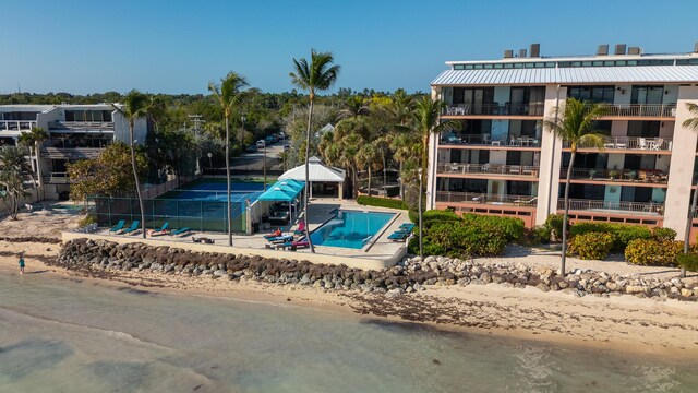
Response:
[[[289,73],[291,83],[302,90],[308,91],[310,98],[310,107],[308,109],[308,130],[305,132],[305,188],[303,195],[303,212],[305,215],[305,239],[310,246],[310,251],[315,252],[315,247],[310,239],[310,222],[308,217],[308,199],[309,199],[309,178],[310,178],[310,127],[313,120],[313,103],[315,102],[315,92],[325,91],[332,87],[337,81],[339,66],[332,63],[335,61],[330,52],[318,52],[311,49],[310,64],[308,60],[301,58],[293,59],[293,72]]]

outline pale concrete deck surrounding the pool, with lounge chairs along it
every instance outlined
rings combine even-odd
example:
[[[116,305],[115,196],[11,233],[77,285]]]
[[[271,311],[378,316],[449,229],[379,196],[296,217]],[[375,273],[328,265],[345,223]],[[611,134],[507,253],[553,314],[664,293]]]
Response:
[[[356,211],[369,211],[369,212],[386,212],[395,213],[396,217],[389,222],[387,228],[382,229],[376,236],[376,239],[369,241],[368,246],[362,249],[348,249],[340,247],[323,247],[315,246],[315,253],[311,253],[309,249],[299,249],[297,251],[285,250],[272,250],[267,249],[267,241],[264,239],[264,235],[273,233],[278,226],[273,226],[270,229],[262,230],[260,234],[252,236],[246,235],[233,235],[233,247],[228,247],[228,236],[221,233],[197,233],[193,231],[184,237],[171,237],[171,236],[157,236],[147,237],[143,239],[141,231],[136,231],[131,236],[113,235],[109,234],[108,229],[100,228],[98,231],[91,234],[65,231],[63,233],[63,241],[76,238],[92,238],[92,239],[106,239],[116,241],[119,243],[124,242],[145,242],[152,246],[170,246],[192,251],[204,252],[224,252],[248,255],[260,255],[266,258],[285,258],[294,260],[308,260],[312,263],[325,263],[325,264],[346,264],[350,267],[359,267],[363,270],[377,270],[395,265],[407,253],[406,245],[404,241],[395,242],[387,239],[387,237],[399,228],[402,223],[409,223],[407,211],[362,206],[356,203],[353,200],[337,200],[337,199],[314,199],[311,200],[309,205],[309,221],[308,225],[310,230],[314,230],[326,221],[334,216],[334,211],[341,210],[356,210]],[[302,219],[302,215],[301,215]],[[298,227],[298,219],[290,226],[281,227],[285,234],[296,229]],[[214,239],[214,245],[201,245],[192,241],[194,237],[206,237]]]

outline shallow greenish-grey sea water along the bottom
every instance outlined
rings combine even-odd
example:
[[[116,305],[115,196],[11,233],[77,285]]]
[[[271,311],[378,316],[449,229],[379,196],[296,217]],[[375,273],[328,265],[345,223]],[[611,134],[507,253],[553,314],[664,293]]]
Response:
[[[0,392],[696,392],[698,361],[0,275]]]

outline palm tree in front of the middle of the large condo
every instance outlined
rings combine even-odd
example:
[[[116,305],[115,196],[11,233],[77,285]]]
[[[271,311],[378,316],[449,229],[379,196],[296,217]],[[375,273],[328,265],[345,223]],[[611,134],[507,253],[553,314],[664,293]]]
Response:
[[[558,114],[563,112],[561,119]],[[567,225],[569,221],[569,180],[571,168],[575,166],[575,156],[580,145],[585,147],[603,148],[604,135],[599,132],[597,120],[606,109],[598,104],[583,103],[569,98],[564,108],[553,108],[554,116],[542,121],[543,129],[569,144],[569,164],[567,167],[567,180],[565,181],[565,215],[563,221],[563,255],[561,261],[561,274],[565,275],[565,261],[567,258]]]

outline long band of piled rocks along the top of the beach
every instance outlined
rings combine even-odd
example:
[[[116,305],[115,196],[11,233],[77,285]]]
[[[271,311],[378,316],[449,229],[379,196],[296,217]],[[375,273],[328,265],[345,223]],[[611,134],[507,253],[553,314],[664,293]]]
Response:
[[[300,255],[300,254],[299,254]],[[359,290],[398,297],[430,285],[485,285],[490,283],[543,291],[561,290],[575,296],[660,297],[696,301],[696,278],[657,279],[636,275],[574,270],[562,276],[551,267],[479,263],[445,257],[406,258],[381,271],[308,261],[194,252],[140,242],[119,245],[107,240],[75,239],[61,248],[55,263],[88,275],[119,271],[152,271],[164,274],[207,276],[218,279],[253,279],[276,284],[306,285],[325,290]]]

